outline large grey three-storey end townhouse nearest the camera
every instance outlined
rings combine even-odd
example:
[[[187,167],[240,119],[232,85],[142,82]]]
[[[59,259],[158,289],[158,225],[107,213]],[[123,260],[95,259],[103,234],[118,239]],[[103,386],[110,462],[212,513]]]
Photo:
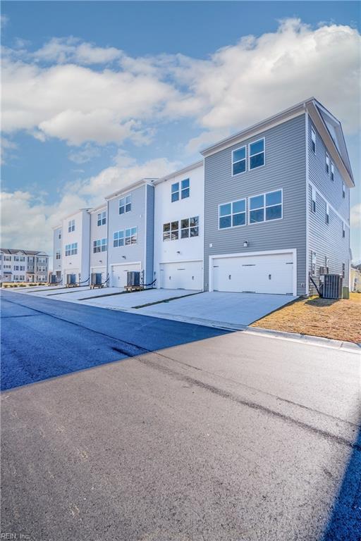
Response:
[[[323,267],[348,285],[353,176],[341,125],[318,101],[202,154],[204,289],[309,294]]]

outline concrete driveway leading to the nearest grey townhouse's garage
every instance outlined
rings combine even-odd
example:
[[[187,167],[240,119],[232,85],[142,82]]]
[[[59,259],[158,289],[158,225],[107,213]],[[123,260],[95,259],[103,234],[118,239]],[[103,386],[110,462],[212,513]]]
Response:
[[[297,299],[291,295],[204,292],[137,312],[188,323],[243,328]]]

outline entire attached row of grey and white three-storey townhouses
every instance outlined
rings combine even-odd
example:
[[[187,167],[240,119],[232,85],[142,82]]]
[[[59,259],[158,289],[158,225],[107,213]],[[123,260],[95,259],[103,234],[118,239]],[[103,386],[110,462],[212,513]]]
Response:
[[[310,294],[350,275],[350,188],[341,123],[314,98],[142,179],[54,228],[54,271],[113,287]]]

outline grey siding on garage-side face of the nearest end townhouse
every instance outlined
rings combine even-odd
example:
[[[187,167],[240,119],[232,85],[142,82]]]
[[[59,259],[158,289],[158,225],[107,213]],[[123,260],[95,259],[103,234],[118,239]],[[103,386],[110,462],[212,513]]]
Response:
[[[261,137],[265,137],[265,166],[232,177],[232,151]],[[297,291],[305,294],[305,149],[303,114],[204,159],[204,290],[209,288],[211,255],[297,249]],[[283,189],[283,219],[248,224],[247,198],[276,189]],[[247,225],[219,230],[219,204],[243,198]],[[245,240],[249,242],[247,248],[243,247]]]

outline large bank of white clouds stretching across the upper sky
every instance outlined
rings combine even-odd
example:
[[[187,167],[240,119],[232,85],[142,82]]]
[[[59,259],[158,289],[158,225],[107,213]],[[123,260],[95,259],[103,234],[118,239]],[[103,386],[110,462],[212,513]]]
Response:
[[[111,68],[99,71],[94,63]],[[237,131],[311,95],[355,132],[360,34],[288,19],[276,32],[243,37],[206,60],[132,58],[75,37],[53,38],[35,53],[6,49],[2,78],[3,130],[75,145],[143,143],[149,128],[178,117],[206,132]]]

